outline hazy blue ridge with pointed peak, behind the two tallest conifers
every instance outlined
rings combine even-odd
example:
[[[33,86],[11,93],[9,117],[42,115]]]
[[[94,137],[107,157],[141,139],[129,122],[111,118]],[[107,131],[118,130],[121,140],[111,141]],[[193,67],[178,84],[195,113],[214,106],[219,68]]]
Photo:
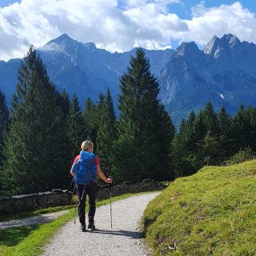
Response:
[[[127,70],[129,57],[134,56],[135,51],[136,48],[124,53],[110,53],[97,48],[94,42],[78,42],[67,34],[61,34],[37,48],[50,79],[59,91],[66,89],[69,96],[78,94],[82,106],[86,97],[97,100],[99,93],[105,93],[108,88],[113,94],[114,102],[117,102],[119,78]],[[151,59],[151,72],[158,74],[174,50],[145,49],[145,52]],[[10,59],[0,62],[0,81],[3,80],[1,78],[6,81],[0,82],[0,88],[7,95],[9,105],[11,95],[15,92],[20,61],[21,59]],[[15,80],[12,79],[14,73]]]

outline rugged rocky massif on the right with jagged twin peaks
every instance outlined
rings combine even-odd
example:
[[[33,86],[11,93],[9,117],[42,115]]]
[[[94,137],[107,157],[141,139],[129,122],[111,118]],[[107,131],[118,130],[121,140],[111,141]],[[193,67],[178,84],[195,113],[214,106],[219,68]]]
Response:
[[[234,114],[241,104],[256,105],[255,64],[256,45],[233,34],[214,36],[203,50],[184,42],[160,72],[160,99],[176,124],[208,101]]]

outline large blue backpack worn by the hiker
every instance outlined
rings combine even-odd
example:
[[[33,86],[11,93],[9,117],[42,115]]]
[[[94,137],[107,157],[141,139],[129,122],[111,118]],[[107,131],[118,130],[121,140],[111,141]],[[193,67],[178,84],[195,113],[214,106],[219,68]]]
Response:
[[[80,151],[80,158],[75,163],[75,181],[80,185],[89,184],[96,180],[95,154],[87,151]]]

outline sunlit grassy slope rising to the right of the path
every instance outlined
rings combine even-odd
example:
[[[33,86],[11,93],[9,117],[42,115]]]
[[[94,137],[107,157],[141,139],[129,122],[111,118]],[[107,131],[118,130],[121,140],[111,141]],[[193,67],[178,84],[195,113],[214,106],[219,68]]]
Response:
[[[256,160],[178,178],[143,225],[154,255],[256,255]]]

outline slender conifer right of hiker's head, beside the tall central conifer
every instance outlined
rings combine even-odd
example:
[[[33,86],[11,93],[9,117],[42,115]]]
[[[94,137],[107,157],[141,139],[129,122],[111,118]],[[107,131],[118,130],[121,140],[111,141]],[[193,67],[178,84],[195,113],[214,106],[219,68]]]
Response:
[[[108,89],[105,102],[101,106],[99,130],[97,132],[97,154],[100,157],[100,165],[106,176],[110,176],[110,154],[113,141],[116,140],[116,115],[113,108],[113,100]]]

